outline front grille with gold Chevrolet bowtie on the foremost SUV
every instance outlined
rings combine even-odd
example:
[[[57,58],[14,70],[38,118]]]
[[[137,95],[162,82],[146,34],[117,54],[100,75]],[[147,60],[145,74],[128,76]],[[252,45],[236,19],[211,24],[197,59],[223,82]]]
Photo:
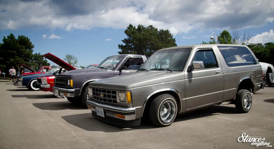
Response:
[[[92,96],[93,96],[94,100],[98,100],[101,102],[107,102],[110,104],[117,104],[117,91],[116,90],[92,88]]]

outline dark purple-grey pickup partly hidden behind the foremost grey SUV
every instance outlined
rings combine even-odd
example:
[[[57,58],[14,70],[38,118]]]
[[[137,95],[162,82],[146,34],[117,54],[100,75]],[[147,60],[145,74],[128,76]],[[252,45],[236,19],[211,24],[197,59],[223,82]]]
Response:
[[[72,103],[83,103],[88,99],[88,83],[118,75],[136,73],[137,69],[128,69],[131,65],[142,65],[145,55],[121,54],[107,57],[93,69],[72,70],[55,75],[53,94],[67,96]]]

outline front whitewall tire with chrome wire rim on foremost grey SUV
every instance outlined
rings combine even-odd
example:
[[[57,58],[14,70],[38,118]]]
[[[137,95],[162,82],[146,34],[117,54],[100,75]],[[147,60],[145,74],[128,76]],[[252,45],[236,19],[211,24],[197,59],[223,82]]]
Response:
[[[177,102],[170,94],[154,98],[149,107],[150,121],[158,127],[170,126],[177,116]]]

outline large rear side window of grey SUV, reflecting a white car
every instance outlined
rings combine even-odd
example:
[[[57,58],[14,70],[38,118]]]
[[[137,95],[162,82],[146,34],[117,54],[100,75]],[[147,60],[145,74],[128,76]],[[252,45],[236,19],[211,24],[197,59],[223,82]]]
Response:
[[[217,46],[229,67],[255,65],[255,58],[246,47]]]

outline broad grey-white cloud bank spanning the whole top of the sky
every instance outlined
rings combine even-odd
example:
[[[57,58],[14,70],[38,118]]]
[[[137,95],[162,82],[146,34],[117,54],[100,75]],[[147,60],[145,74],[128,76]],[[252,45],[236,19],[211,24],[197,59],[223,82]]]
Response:
[[[235,5],[236,4],[236,5]],[[273,0],[3,0],[0,28],[124,29],[130,23],[169,29],[242,29],[273,22]]]

